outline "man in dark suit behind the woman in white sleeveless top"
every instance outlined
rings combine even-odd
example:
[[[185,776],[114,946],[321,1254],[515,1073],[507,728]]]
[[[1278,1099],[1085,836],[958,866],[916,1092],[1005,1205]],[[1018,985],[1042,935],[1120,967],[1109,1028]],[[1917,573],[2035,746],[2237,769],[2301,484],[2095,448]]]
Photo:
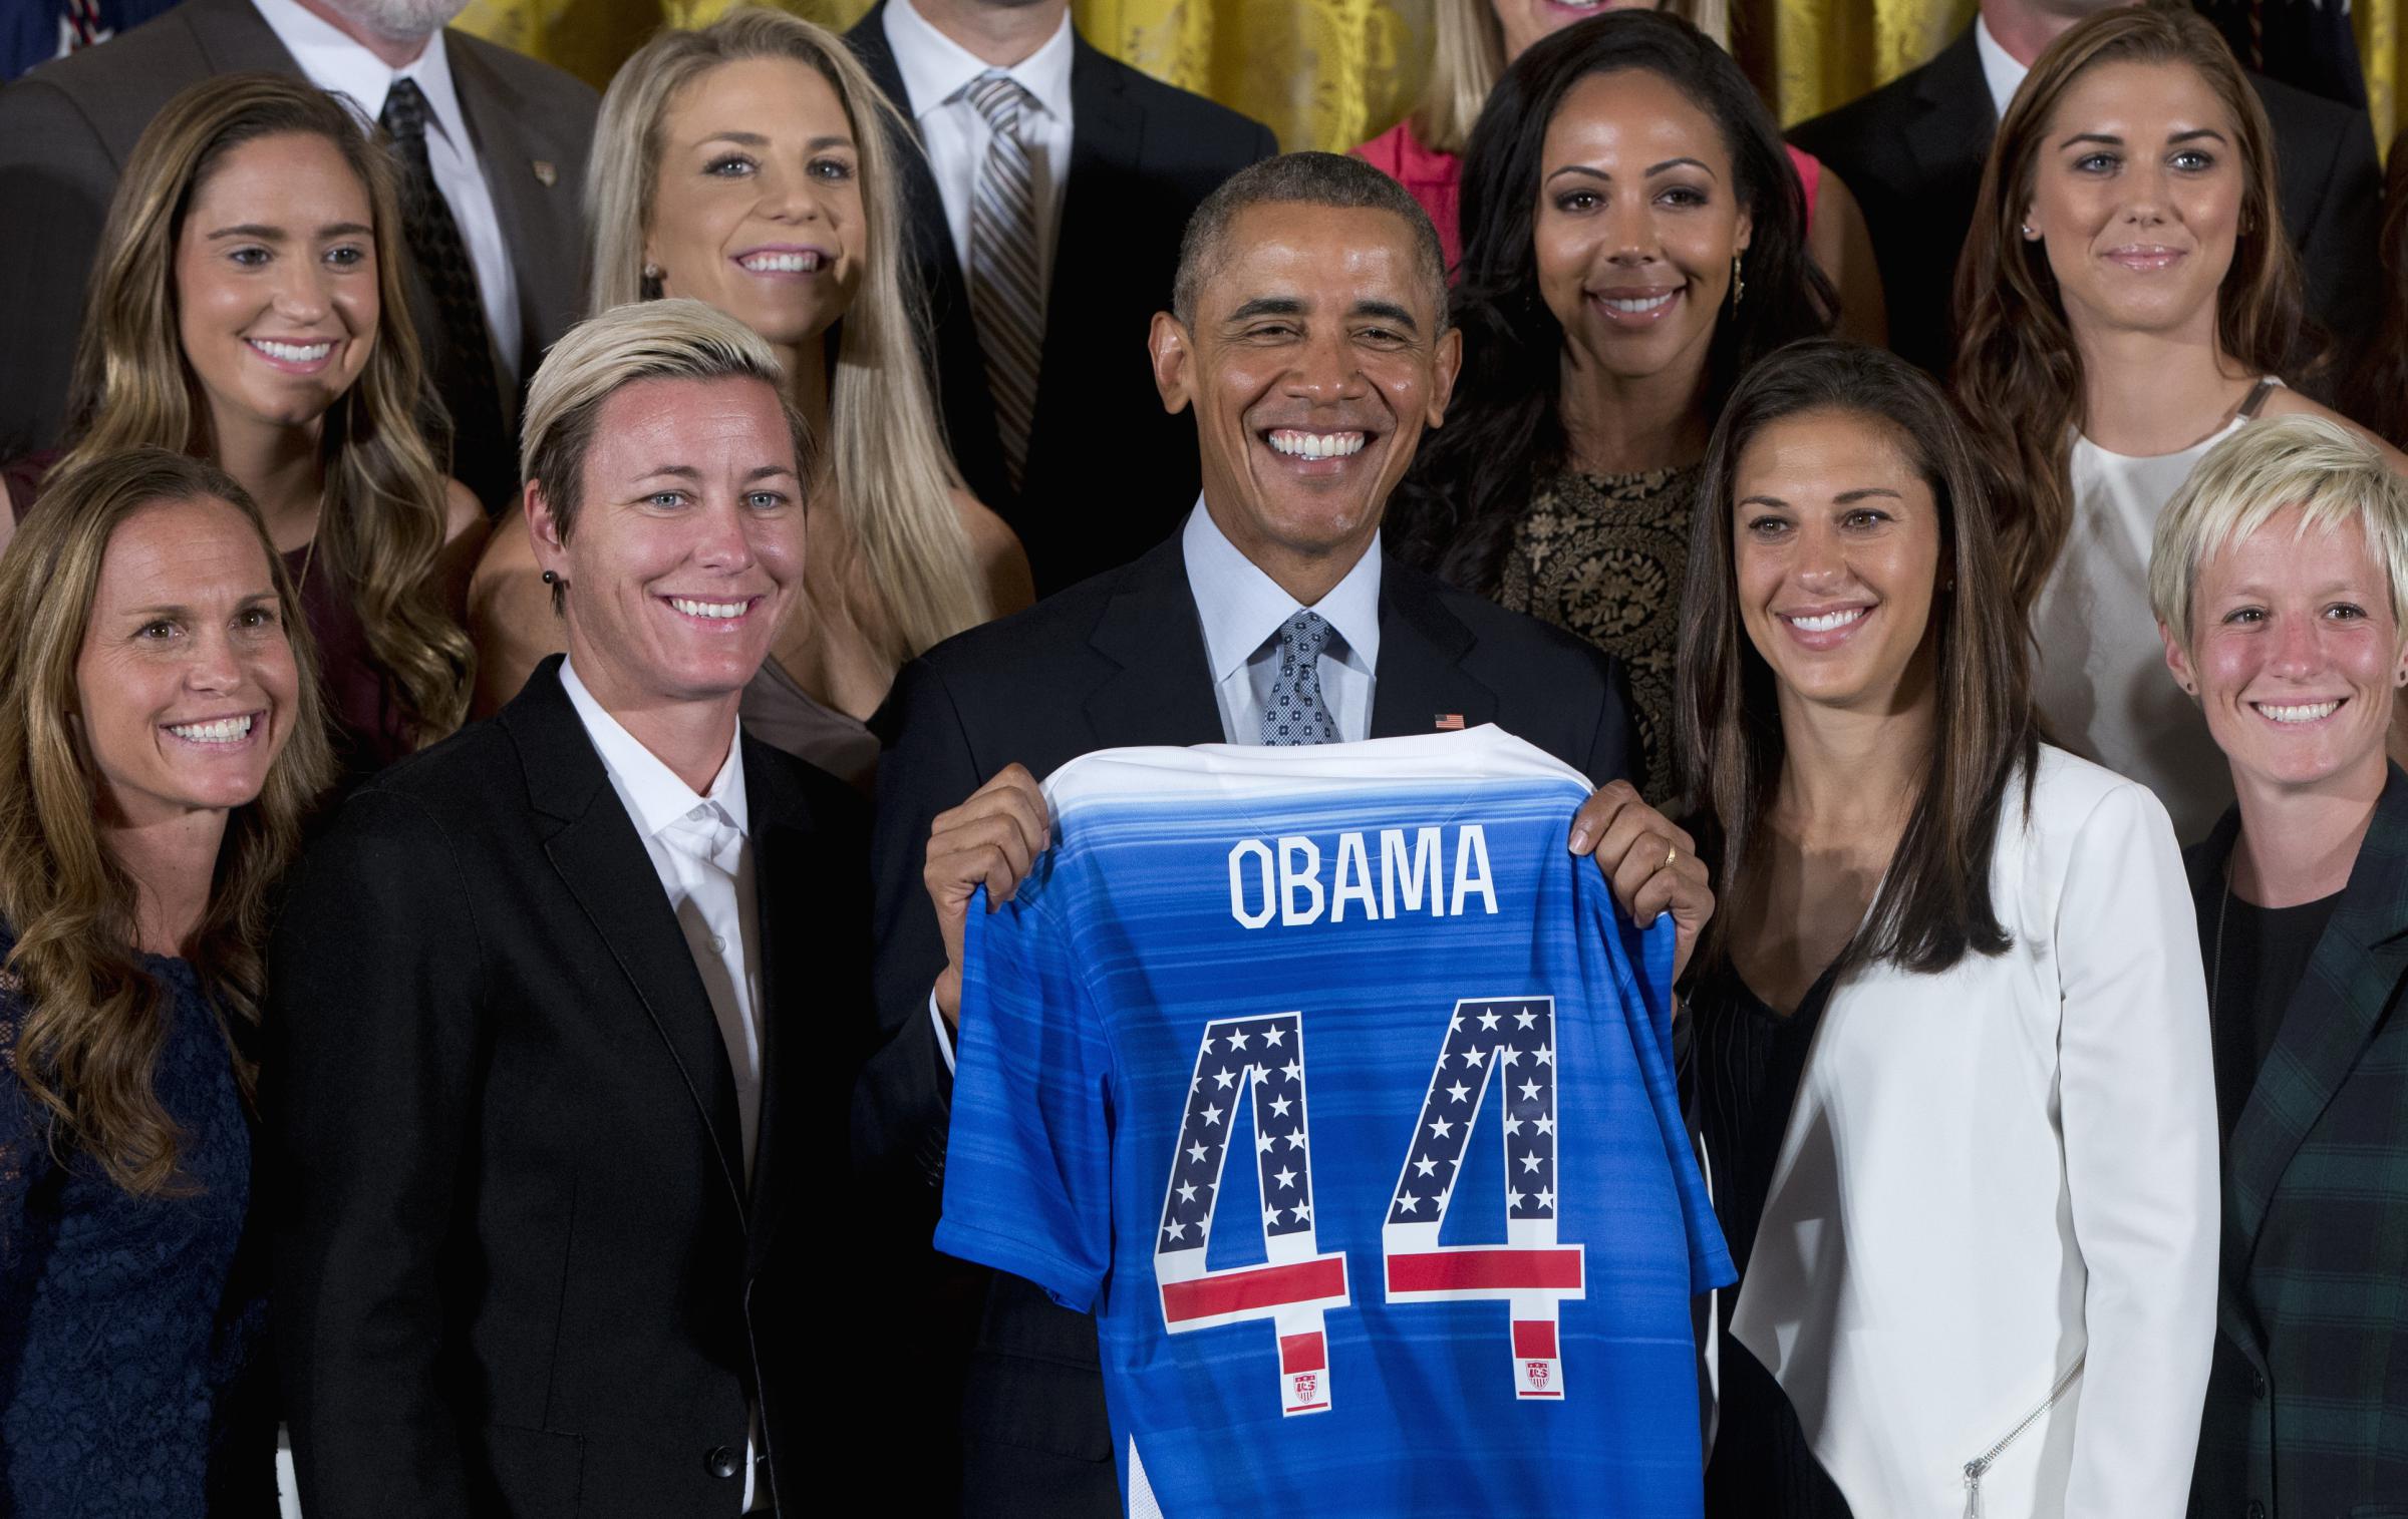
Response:
[[[1830,164],[1873,231],[1890,347],[1936,376],[1955,361],[1958,250],[1982,159],[2032,60],[2061,31],[2124,0],[1982,0],[1931,63],[1816,116],[1789,140]],[[2249,75],[2273,125],[2283,226],[2307,274],[2307,313],[2341,339],[2369,332],[2382,299],[2384,181],[2365,111]]]

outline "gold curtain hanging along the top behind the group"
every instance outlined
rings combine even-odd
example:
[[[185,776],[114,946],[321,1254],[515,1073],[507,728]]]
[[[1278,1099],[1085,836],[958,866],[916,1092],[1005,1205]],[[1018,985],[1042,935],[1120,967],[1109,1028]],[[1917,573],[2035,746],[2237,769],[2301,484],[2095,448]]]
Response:
[[[698,26],[732,0],[470,0],[460,24],[590,79],[662,22]],[[2331,2],[2331,0],[2326,0]],[[1401,118],[1421,91],[1433,0],[1074,0],[1079,31],[1158,79],[1269,123],[1286,147],[1344,149]],[[850,26],[869,0],[785,0]],[[1895,79],[1958,34],[1975,0],[1736,0],[1736,48],[1782,123]],[[2401,123],[2408,0],[2350,10],[2374,140]]]

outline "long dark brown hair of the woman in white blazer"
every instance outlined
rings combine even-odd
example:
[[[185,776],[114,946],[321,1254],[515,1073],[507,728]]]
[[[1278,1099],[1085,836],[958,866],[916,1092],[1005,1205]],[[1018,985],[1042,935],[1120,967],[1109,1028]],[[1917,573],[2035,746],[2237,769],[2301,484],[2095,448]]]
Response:
[[[1931,753],[1890,869],[1840,963],[1946,970],[1967,953],[2001,953],[2008,934],[1989,896],[1989,862],[2008,785],[2020,775],[2030,806],[2040,758],[2030,650],[1991,534],[1989,481],[1965,424],[1929,376],[1885,349],[1837,339],[1792,344],[1748,371],[1714,426],[1688,527],[1674,703],[1674,758],[1681,797],[1695,814],[1690,831],[1714,867],[1714,891],[1734,900],[1748,871],[1763,869],[1765,816],[1787,758],[1772,667],[1741,621],[1739,460],[1767,426],[1806,414],[1864,419],[1890,433],[1941,513]],[[1729,944],[1727,915],[1717,912],[1693,973],[1724,963]]]

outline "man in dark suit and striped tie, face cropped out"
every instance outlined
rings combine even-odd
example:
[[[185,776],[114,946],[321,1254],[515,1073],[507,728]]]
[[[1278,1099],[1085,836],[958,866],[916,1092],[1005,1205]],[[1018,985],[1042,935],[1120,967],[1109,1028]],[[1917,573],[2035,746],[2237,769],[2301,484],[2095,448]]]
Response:
[[[1279,142],[1091,48],[1069,0],[884,0],[845,41],[920,135],[910,253],[970,493],[1021,534],[1040,595],[1127,563],[1197,491],[1194,433],[1146,385],[1146,320],[1187,214]]]

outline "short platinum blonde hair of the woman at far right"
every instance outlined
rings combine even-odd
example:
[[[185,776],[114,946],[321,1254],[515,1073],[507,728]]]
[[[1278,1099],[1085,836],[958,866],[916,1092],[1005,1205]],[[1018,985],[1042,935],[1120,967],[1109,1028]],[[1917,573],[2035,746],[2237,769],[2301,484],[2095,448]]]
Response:
[[[2199,568],[2292,506],[2300,508],[2295,539],[2312,527],[2365,527],[2367,554],[2391,592],[2391,626],[2408,628],[2408,481],[2338,421],[2276,416],[2211,448],[2158,513],[2148,604],[2177,645],[2191,648]]]

